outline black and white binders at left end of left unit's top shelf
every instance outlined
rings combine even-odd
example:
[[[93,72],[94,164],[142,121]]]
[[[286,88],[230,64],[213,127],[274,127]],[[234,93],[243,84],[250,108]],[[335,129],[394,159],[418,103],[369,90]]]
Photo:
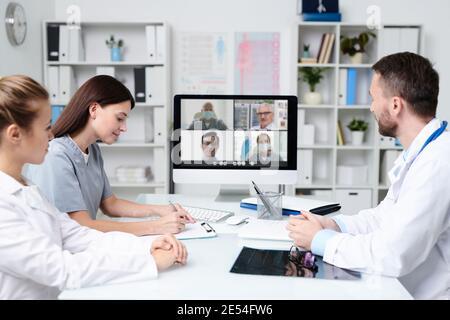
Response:
[[[79,26],[47,24],[48,61],[84,61],[85,51]]]

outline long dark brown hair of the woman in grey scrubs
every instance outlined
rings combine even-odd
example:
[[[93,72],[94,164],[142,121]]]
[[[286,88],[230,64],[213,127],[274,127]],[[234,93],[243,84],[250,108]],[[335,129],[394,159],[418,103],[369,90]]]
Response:
[[[120,81],[107,76],[99,75],[86,81],[73,95],[64,111],[52,126],[55,138],[73,133],[83,128],[89,118],[89,107],[96,102],[104,107],[109,104],[131,102],[134,108],[134,98]]]

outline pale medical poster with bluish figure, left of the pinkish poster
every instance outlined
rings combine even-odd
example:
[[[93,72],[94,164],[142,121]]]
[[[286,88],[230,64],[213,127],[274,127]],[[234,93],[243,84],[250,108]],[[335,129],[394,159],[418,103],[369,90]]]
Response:
[[[224,94],[227,88],[227,34],[183,32],[180,36],[179,92]]]

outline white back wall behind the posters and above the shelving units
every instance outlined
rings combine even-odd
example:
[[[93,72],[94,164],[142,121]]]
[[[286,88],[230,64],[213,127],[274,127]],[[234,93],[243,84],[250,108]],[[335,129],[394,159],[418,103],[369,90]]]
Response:
[[[32,1],[28,1],[32,2]],[[39,1],[41,2],[41,1]],[[57,19],[66,18],[66,8],[76,4],[81,19],[86,20],[164,20],[172,29],[174,41],[182,31],[271,31],[292,28],[298,21],[297,0],[58,0]],[[450,1],[448,0],[341,0],[343,21],[365,23],[366,8],[378,5],[383,24],[421,24],[425,32],[424,54],[435,63],[441,76],[438,116],[450,119]],[[295,48],[289,54],[295,52]],[[292,59],[292,55],[287,59]],[[173,59],[174,57],[172,57]],[[40,61],[37,59],[36,61]],[[292,64],[293,65],[293,64]],[[291,88],[295,70],[283,74],[287,85],[283,93],[295,93]],[[172,84],[177,70],[172,72]],[[287,81],[286,81],[287,80]],[[176,92],[177,88],[173,88]],[[177,189],[179,192],[188,187]],[[194,190],[194,192],[192,191]],[[214,194],[215,188],[189,188],[190,193]]]

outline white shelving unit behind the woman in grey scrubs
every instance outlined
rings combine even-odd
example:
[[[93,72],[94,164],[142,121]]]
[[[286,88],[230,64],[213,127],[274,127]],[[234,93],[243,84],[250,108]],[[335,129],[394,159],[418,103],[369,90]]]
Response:
[[[109,177],[114,193],[126,199],[135,200],[139,193],[169,192],[169,140],[168,127],[171,119],[170,105],[170,38],[169,27],[161,21],[130,21],[130,22],[96,22],[81,23],[81,42],[84,47],[82,61],[49,61],[47,55],[49,24],[65,25],[63,21],[44,21],[43,31],[43,68],[45,85],[51,92],[50,68],[69,67],[73,74],[74,88],[81,86],[86,80],[97,74],[97,67],[114,67],[115,77],[135,95],[134,68],[158,68],[158,101],[147,103],[137,102],[127,120],[127,132],[123,133],[118,142],[112,145],[100,143],[105,171]],[[164,54],[162,57],[148,57],[146,26],[158,27],[158,45]],[[123,61],[111,61],[110,51],[105,40],[110,35],[124,40]],[[162,40],[162,41],[160,41]],[[70,42],[69,42],[70,43]],[[60,47],[61,48],[61,47]],[[159,48],[160,49],[160,48]],[[55,69],[53,69],[55,70]],[[61,81],[61,79],[59,79]],[[148,80],[147,80],[148,81]],[[136,97],[135,97],[136,98]],[[53,101],[52,104],[65,104]],[[158,116],[155,116],[157,112]],[[157,119],[155,119],[157,118]],[[155,123],[158,122],[156,131]],[[155,136],[158,141],[155,142]],[[115,170],[121,165],[150,166],[153,179],[145,183],[119,182]]]

